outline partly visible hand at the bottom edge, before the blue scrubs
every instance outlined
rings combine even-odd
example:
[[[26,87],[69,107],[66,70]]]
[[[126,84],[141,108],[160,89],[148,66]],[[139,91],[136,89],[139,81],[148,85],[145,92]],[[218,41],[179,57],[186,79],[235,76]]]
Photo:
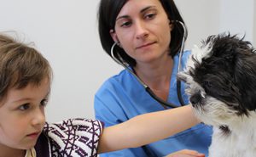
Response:
[[[175,153],[168,154],[166,157],[205,157],[205,154],[198,153],[195,150],[183,149]]]

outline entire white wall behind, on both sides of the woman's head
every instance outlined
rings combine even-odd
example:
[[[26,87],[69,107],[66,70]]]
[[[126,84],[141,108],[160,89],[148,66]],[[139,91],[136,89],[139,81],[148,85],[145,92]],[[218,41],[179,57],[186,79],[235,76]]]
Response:
[[[53,67],[55,76],[47,107],[49,121],[68,117],[93,118],[94,93],[103,81],[122,69],[102,50],[96,23],[99,1],[0,0],[0,31],[15,30],[26,41],[35,42]],[[251,7],[255,5],[252,4],[253,0],[176,2],[189,27],[186,48],[221,31],[246,31],[253,34],[253,20],[255,30],[255,17],[252,17],[255,7]],[[240,8],[240,13],[245,11],[244,14],[248,15],[243,19],[247,27],[236,25],[232,20],[236,19],[233,14],[241,4],[244,9]],[[254,34],[256,36],[255,31]],[[255,36],[252,37],[254,43]]]

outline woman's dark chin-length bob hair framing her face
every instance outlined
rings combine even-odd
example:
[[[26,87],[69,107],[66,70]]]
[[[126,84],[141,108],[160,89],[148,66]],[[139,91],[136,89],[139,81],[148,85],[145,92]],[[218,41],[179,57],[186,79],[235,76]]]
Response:
[[[113,38],[110,35],[110,30],[114,29],[115,20],[118,16],[121,8],[128,0],[101,0],[98,10],[99,20],[99,35],[102,42],[102,48],[111,56],[111,47],[113,46]],[[173,57],[178,53],[182,40],[183,40],[183,26],[177,21],[181,21],[184,24],[182,16],[179,14],[178,9],[173,0],[160,0],[163,8],[166,11],[168,19],[173,23],[173,30],[171,31],[172,40],[170,42],[170,55]],[[185,39],[187,36],[185,35]],[[122,59],[125,60],[132,67],[136,65],[136,60],[132,59],[125,50],[119,47],[114,48],[114,51],[119,52]]]

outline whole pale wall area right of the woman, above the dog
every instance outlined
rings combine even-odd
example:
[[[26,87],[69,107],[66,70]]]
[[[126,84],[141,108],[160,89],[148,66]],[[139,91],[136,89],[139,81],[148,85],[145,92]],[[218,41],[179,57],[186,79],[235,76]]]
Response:
[[[256,47],[256,0],[174,1],[188,25],[187,49],[200,45],[209,35],[228,31],[246,35]]]

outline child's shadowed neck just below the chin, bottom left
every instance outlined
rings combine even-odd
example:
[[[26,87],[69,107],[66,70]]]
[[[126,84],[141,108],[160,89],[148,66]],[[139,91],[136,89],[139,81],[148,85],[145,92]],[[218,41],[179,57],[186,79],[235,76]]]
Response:
[[[12,149],[0,143],[0,157],[24,157],[26,150]]]

